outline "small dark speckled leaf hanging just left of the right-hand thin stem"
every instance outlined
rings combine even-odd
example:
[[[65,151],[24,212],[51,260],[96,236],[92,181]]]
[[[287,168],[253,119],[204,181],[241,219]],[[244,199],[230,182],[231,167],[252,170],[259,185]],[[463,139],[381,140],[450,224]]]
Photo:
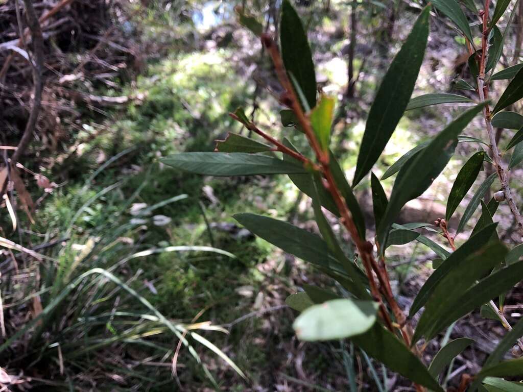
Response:
[[[459,171],[447,200],[447,211],[445,212],[447,222],[476,180],[477,175],[483,167],[484,156],[484,151],[475,153]]]

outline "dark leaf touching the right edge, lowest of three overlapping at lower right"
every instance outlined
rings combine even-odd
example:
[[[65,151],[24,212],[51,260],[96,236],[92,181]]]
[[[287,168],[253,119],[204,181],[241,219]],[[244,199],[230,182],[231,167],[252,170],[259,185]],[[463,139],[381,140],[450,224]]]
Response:
[[[493,245],[494,246],[494,245]],[[497,257],[504,257],[506,249],[500,248]],[[496,258],[496,255],[492,256]],[[515,263],[500,269],[485,279],[472,286],[461,296],[454,298],[454,305],[448,308],[444,317],[440,318],[431,329],[428,337],[434,337],[441,329],[452,324],[453,321],[467,315],[472,310],[479,308],[484,303],[491,301],[494,297],[507,292],[523,278],[523,263]]]

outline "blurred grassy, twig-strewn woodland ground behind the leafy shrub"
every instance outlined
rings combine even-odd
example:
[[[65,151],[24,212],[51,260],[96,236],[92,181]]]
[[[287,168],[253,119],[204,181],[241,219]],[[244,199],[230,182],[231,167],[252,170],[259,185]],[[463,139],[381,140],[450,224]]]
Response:
[[[158,163],[175,152],[212,151],[214,140],[229,131],[247,135],[228,116],[238,106],[260,128],[303,145],[297,131],[281,126],[269,59],[234,13],[243,6],[276,33],[279,3],[34,3],[44,39],[42,110],[19,160],[20,180],[7,188],[0,215],[0,236],[17,244],[0,261],[0,381],[10,390],[408,390],[349,343],[303,344],[293,335],[289,294],[312,282],[342,289],[314,278],[311,267],[232,219],[236,212],[255,212],[316,230],[307,198],[290,181],[202,178]],[[423,4],[295,4],[309,31],[319,88],[338,97],[333,146],[352,173],[374,90]],[[30,42],[13,43],[25,34],[24,12],[21,2],[0,0],[3,146],[17,145],[32,104],[24,55]],[[522,18],[519,11],[505,66],[518,59]],[[452,92],[457,74],[470,78],[464,42],[445,19],[432,19],[415,95]],[[376,173],[458,110],[443,105],[407,112]],[[481,119],[475,121],[467,133],[484,137]],[[460,144],[422,201],[407,205],[404,222],[444,216],[450,180],[475,148]],[[0,166],[7,151],[0,151]],[[392,180],[384,184],[390,188]],[[521,183],[515,187],[520,195]],[[366,188],[356,193],[371,211]],[[500,206],[498,216],[510,239],[508,209]],[[395,290],[408,306],[434,254],[394,248]],[[521,296],[509,301],[514,317]],[[480,333],[475,329],[484,325],[473,318],[462,324],[456,328],[472,329],[485,352],[501,332]],[[482,355],[481,349],[468,352],[454,366],[473,370]],[[452,372],[448,379],[457,382]]]

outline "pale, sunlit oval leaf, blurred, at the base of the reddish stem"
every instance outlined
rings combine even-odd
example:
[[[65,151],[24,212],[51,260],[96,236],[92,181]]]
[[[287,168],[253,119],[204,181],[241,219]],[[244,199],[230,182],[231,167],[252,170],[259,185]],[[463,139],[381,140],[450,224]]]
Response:
[[[368,331],[377,312],[378,304],[373,301],[333,299],[304,310],[292,327],[300,340],[345,339]]]

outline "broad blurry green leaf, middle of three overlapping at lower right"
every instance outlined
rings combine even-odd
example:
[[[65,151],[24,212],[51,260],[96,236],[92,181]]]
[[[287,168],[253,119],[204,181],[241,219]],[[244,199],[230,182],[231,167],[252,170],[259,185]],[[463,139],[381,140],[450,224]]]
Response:
[[[480,307],[485,302],[490,301],[491,298],[500,294],[493,293],[490,297],[490,292],[488,291],[483,292],[483,294],[477,293],[478,296],[475,296],[473,299],[483,298],[485,294],[488,298],[486,300],[482,299],[477,305],[472,301],[474,303],[474,306],[472,306],[468,302],[470,298],[467,295],[470,295],[470,292],[467,289],[485,273],[490,272],[496,264],[499,264],[499,259],[505,253],[506,248],[502,244],[492,243],[472,253],[465,253],[464,257],[462,256],[459,259],[450,256],[445,263],[448,263],[449,260],[454,260],[454,265],[437,282],[436,287],[430,294],[425,305],[425,312],[423,312],[416,327],[413,343],[422,336],[425,336],[427,339],[433,338],[437,332],[449,326],[452,321],[471,312],[474,306]],[[445,263],[435,273],[440,271]],[[461,298],[460,301],[458,301],[458,298]]]

